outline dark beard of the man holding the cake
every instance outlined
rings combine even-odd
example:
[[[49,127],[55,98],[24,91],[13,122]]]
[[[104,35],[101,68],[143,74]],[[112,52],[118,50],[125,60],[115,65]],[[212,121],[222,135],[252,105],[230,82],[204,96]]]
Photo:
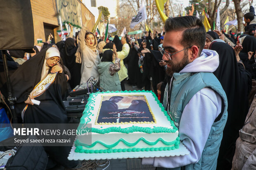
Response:
[[[184,52],[184,56],[182,61],[180,61],[179,63],[174,64],[172,60],[166,61],[166,63],[168,65],[171,65],[171,67],[167,67],[166,69],[166,74],[170,77],[173,76],[173,73],[175,72],[180,72],[183,68],[185,68],[185,66],[187,64],[189,64],[189,60],[188,60],[188,55],[187,55],[187,50],[185,50]]]

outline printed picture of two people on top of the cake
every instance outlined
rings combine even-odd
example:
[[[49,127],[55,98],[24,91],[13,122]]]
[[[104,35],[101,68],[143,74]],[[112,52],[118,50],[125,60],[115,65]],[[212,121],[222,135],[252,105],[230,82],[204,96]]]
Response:
[[[145,95],[102,95],[97,123],[152,122]]]

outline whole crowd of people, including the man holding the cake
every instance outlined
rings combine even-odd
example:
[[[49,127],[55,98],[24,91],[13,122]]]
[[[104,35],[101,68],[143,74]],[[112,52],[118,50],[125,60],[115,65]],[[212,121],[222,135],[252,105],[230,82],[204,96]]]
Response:
[[[112,41],[104,41],[104,36],[98,38],[88,31],[88,14],[85,19],[77,37],[55,44],[49,35],[33,53],[6,51],[19,122],[67,123],[62,101],[71,89],[91,77],[102,91],[125,91],[128,82],[158,96],[190,152],[143,158],[142,164],[158,170],[256,168],[256,18],[252,7],[244,14],[243,35],[206,32],[203,18],[183,16],[168,18],[164,33],[154,30],[121,40],[115,35]],[[0,91],[7,98],[2,56],[0,64]],[[133,101],[130,107],[139,102]],[[45,150],[52,159],[48,168],[54,163],[69,168],[77,164],[66,160],[68,147]]]

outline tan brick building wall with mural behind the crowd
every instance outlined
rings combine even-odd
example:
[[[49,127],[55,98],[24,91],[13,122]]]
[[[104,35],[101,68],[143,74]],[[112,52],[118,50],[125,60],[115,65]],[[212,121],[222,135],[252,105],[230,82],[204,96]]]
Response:
[[[92,29],[95,24],[95,16],[80,0],[31,0],[31,8],[35,44],[38,40],[46,42],[50,33],[54,36],[55,43],[61,40],[57,33],[57,30],[61,30],[59,16],[62,23],[69,21],[82,27],[85,22],[84,13],[89,12],[92,18],[89,29]],[[74,30],[79,29],[74,28]]]

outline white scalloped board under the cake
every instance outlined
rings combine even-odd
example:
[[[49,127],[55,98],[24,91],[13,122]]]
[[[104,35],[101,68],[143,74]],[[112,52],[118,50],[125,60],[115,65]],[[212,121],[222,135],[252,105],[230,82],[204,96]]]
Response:
[[[179,149],[171,151],[140,151],[140,152],[116,152],[116,153],[102,153],[102,154],[85,154],[76,153],[76,147],[71,148],[68,160],[100,160],[100,159],[123,159],[123,158],[149,158],[149,157],[167,157],[167,156],[183,156],[188,155],[189,151],[180,142]]]

